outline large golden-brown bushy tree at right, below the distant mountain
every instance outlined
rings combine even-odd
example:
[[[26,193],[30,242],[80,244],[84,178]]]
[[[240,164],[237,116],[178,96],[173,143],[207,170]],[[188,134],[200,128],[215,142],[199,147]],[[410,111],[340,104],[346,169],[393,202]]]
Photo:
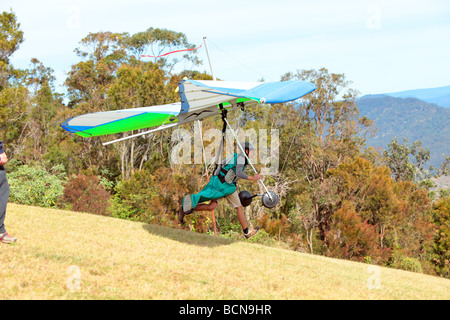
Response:
[[[360,157],[329,170],[327,179],[336,186],[334,212],[350,203],[373,226],[382,261],[401,265],[396,260],[410,257],[427,266],[434,227],[426,190],[411,181],[396,182],[386,167]],[[386,260],[389,252],[392,261]]]

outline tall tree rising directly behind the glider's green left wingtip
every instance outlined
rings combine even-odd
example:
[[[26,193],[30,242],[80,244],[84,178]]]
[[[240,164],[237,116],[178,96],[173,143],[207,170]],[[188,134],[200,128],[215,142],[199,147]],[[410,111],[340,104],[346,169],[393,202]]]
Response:
[[[127,58],[122,40],[123,34],[98,32],[89,33],[80,41],[75,52],[82,61],[72,66],[65,81],[70,116],[112,109],[108,91]],[[77,140],[76,152],[82,161],[78,169],[106,167],[115,161],[116,155],[101,144],[101,138],[67,138]]]

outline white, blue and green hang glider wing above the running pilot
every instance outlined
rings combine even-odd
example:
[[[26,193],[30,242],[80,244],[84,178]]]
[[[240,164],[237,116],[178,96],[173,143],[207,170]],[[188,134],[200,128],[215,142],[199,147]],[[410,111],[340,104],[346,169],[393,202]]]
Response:
[[[221,112],[220,108],[236,109],[258,103],[289,102],[314,90],[314,84],[305,81],[244,83],[182,80],[178,84],[181,102],[88,113],[68,119],[61,127],[82,137],[156,127],[145,132],[150,133],[217,115]]]

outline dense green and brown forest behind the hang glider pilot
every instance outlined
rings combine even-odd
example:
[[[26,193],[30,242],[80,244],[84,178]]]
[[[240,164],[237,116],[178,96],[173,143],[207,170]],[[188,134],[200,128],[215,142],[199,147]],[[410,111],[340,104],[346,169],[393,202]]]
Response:
[[[140,59],[145,52],[195,48],[186,35],[157,28],[89,33],[74,49],[79,61],[67,74],[66,94],[56,92],[53,70],[38,59],[28,69],[10,63],[23,41],[14,12],[3,12],[0,139],[10,159],[10,201],[214,234],[211,214],[190,215],[185,225],[177,221],[182,197],[198,192],[206,177],[202,164],[171,163],[171,132],[103,146],[111,137],[85,139],[60,127],[87,112],[176,102],[184,77],[212,79],[194,71],[201,64],[196,51]],[[176,71],[186,62],[190,70]],[[421,141],[394,139],[386,150],[367,147],[373,121],[359,114],[358,91],[344,74],[296,70],[281,80],[311,81],[316,90],[293,103],[229,116],[244,130],[279,130],[279,169],[264,182],[280,204],[268,210],[254,201],[246,208],[247,219],[262,227],[253,241],[449,278],[450,199],[448,191],[434,189],[431,178],[448,175],[450,158],[431,170]],[[202,128],[220,128],[220,121],[205,119]],[[183,128],[194,130],[192,124]],[[240,184],[259,192],[256,184]],[[241,238],[225,201],[215,217],[220,236]]]

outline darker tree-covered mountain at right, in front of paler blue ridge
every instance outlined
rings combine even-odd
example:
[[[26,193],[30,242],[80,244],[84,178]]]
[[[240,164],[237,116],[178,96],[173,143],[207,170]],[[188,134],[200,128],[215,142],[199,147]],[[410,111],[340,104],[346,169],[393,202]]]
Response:
[[[375,148],[387,148],[394,137],[422,141],[431,159],[428,166],[438,167],[450,156],[450,108],[443,108],[416,98],[367,95],[357,101],[360,114],[375,121],[377,133],[367,141]]]

